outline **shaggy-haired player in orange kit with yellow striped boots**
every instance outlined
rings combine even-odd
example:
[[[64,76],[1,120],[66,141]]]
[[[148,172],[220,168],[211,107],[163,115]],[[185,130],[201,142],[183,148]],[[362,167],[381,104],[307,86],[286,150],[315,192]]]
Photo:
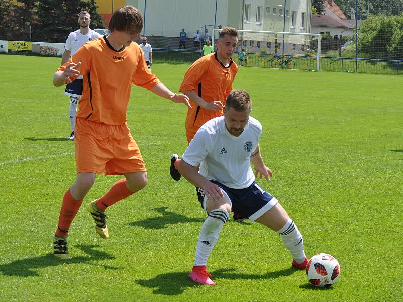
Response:
[[[109,237],[105,209],[147,184],[146,167],[126,120],[131,83],[190,107],[186,95],[171,92],[149,71],[143,51],[133,42],[142,28],[140,12],[132,6],[121,7],[109,22],[110,35],[81,46],[54,74],[55,86],[83,75],[83,95],[75,128],[77,175],[75,183],[64,194],[54,234],[53,253],[57,258],[70,258],[68,230],[96,174],[125,177],[87,206],[95,220],[96,232],[104,239]]]

